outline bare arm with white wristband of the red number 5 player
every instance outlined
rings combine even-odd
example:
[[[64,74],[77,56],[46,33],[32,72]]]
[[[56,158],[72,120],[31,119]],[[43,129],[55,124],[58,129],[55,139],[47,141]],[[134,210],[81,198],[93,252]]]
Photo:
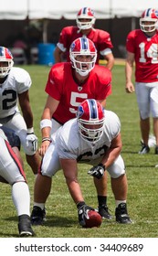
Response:
[[[42,144],[39,147],[39,155],[45,155],[47,151],[47,147],[50,144],[50,133],[51,133],[51,119],[53,113],[58,108],[59,101],[55,100],[51,96],[47,96],[47,102],[42,113],[41,122],[40,122],[40,129],[42,133]]]

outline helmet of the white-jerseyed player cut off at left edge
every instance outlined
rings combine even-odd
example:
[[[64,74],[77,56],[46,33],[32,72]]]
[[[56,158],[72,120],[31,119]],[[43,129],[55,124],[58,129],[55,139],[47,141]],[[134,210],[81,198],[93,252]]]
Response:
[[[5,78],[13,67],[13,56],[8,48],[0,47],[0,78]]]

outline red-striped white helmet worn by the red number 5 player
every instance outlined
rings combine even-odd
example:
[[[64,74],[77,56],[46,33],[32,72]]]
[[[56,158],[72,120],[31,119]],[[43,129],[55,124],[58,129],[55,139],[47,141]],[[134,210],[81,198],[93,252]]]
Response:
[[[77,56],[90,56],[89,62],[81,62],[77,60]],[[79,37],[72,42],[69,48],[69,58],[72,63],[72,68],[76,69],[80,76],[87,76],[92,69],[94,69],[97,59],[97,49],[94,43],[87,37]],[[85,69],[85,64],[88,67]]]

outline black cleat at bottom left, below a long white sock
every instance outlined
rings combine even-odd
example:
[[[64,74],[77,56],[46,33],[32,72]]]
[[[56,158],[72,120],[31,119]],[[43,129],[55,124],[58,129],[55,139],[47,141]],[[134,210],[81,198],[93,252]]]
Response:
[[[20,237],[35,236],[35,233],[31,228],[31,221],[28,215],[24,214],[18,217],[18,231]]]

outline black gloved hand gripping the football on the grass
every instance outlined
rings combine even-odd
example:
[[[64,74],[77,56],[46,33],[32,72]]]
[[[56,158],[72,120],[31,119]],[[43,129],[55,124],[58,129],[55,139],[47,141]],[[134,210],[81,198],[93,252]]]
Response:
[[[79,202],[77,205],[79,215],[79,225],[84,227],[86,225],[85,219],[89,219],[88,211],[95,210],[85,204],[85,202]]]

